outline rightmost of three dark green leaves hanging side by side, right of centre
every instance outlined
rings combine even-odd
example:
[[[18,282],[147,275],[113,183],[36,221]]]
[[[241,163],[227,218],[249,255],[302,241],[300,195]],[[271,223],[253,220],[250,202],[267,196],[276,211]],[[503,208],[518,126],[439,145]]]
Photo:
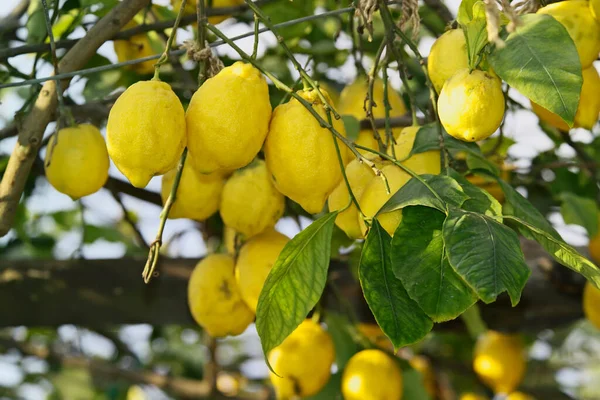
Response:
[[[517,234],[474,212],[451,209],[443,227],[450,265],[485,303],[508,292],[516,305],[531,274]]]

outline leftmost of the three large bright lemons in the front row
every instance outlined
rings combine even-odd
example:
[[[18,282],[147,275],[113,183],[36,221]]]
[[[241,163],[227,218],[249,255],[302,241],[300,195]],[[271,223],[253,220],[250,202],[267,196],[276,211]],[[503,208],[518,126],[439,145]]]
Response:
[[[131,85],[117,99],[106,126],[108,154],[135,187],[177,166],[185,148],[185,114],[171,87],[160,81]]]

